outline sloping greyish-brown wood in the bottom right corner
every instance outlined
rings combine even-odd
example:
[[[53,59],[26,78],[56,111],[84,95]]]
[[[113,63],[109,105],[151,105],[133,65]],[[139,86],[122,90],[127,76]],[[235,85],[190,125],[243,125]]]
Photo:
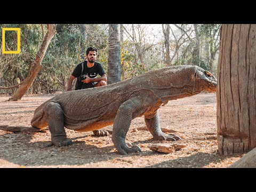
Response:
[[[229,168],[256,168],[256,148],[229,166]]]

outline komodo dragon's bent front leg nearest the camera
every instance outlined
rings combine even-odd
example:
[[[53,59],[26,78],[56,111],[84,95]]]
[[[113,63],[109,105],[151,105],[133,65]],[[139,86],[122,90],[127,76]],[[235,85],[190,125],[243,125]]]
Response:
[[[125,143],[125,137],[133,118],[143,113],[143,98],[137,96],[125,101],[119,108],[114,120],[112,141],[117,151],[123,155],[141,151],[137,145],[129,148]]]

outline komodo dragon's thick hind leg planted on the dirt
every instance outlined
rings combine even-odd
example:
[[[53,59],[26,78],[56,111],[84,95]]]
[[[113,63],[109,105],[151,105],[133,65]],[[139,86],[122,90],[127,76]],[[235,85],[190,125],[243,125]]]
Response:
[[[59,103],[47,103],[46,111],[48,111],[48,126],[51,132],[52,144],[57,147],[72,145],[65,132],[64,114]]]

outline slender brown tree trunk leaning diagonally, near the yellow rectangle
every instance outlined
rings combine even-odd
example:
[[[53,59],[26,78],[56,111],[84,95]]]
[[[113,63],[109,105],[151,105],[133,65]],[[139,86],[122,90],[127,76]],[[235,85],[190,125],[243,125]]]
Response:
[[[31,63],[28,76],[25,79],[25,82],[19,87],[19,89],[12,95],[9,101],[20,100],[23,95],[28,91],[29,87],[33,84],[36,75],[42,69],[42,61],[44,59],[45,52],[48,48],[48,45],[51,42],[52,37],[55,34],[55,25],[47,24],[47,33],[43,39],[43,42],[37,52],[36,59]]]

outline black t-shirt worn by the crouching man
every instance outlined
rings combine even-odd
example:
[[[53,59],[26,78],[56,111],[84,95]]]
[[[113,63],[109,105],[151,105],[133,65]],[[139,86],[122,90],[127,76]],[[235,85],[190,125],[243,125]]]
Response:
[[[79,63],[76,66],[76,68],[74,69],[74,71],[72,73],[72,75],[74,77],[81,76],[82,63],[83,62]],[[95,77],[97,77],[98,74],[100,76],[106,74],[100,63],[94,62],[94,66],[90,68],[90,67],[87,67],[87,61],[84,61],[84,70],[83,70],[82,75],[87,75],[90,78],[95,78]],[[93,87],[93,85],[94,85],[93,82],[83,83],[83,82],[79,81],[79,78],[77,78],[75,90],[82,89],[82,86],[83,86],[83,89],[86,89],[86,88],[89,88],[89,87]]]

